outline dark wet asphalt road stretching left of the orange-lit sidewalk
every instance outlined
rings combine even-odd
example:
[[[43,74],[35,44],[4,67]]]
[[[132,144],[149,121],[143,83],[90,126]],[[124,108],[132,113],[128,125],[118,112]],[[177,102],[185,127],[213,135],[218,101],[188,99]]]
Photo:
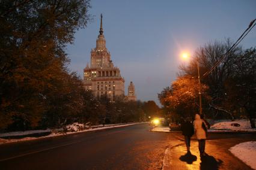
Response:
[[[168,134],[147,124],[0,145],[0,169],[161,169]]]

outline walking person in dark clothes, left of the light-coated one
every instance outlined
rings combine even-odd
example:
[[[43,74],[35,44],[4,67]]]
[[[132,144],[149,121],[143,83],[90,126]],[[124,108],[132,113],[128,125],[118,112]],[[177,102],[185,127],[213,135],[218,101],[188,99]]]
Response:
[[[187,153],[190,154],[190,138],[194,134],[194,127],[191,123],[190,117],[187,117],[181,124],[182,135],[184,135],[185,143],[187,147]]]

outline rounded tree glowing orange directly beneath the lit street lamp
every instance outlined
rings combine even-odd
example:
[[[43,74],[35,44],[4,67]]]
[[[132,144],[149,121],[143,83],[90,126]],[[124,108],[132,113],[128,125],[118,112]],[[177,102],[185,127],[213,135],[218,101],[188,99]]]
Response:
[[[201,84],[203,106],[210,99],[207,90],[208,87]],[[174,117],[194,116],[199,110],[198,98],[198,80],[189,75],[178,77],[171,87],[163,89],[159,94],[161,103]]]

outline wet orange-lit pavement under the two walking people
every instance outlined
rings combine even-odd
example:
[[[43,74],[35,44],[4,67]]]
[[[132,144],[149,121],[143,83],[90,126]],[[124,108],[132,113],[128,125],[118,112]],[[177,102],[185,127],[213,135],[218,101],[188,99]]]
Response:
[[[187,154],[183,136],[173,134],[176,141],[170,142],[163,169],[251,169],[233,156],[228,148],[240,142],[256,141],[254,134],[209,134],[206,141],[206,156],[200,157],[198,141],[192,137],[191,154]]]

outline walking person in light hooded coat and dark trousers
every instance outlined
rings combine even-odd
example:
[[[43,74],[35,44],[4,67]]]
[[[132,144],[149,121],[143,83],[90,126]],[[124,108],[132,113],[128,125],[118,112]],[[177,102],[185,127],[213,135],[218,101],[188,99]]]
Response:
[[[194,128],[195,128],[195,134],[198,139],[198,148],[200,151],[200,156],[206,156],[204,149],[206,148],[207,124],[206,122],[204,122],[203,119],[201,119],[199,114],[195,114]]]

